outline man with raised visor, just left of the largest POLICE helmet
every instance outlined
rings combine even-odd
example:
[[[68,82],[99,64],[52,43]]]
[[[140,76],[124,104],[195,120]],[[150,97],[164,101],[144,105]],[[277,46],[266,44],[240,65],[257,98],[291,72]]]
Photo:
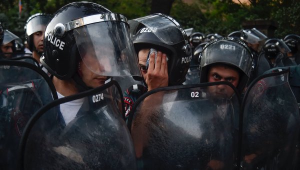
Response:
[[[37,62],[40,62],[39,58],[43,53],[44,31],[50,18],[51,15],[49,14],[35,13],[27,19],[24,26],[28,48],[32,52],[32,57],[36,59]],[[42,69],[47,72],[45,68]]]

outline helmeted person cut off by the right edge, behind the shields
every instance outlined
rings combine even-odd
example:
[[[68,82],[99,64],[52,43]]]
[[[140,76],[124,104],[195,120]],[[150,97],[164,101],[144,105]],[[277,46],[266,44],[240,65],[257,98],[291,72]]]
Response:
[[[286,43],[286,45],[289,47],[291,50],[290,52],[287,53],[287,56],[296,62],[296,64],[300,63],[300,36],[296,34],[288,34],[283,38],[283,41]],[[290,65],[285,65],[285,66],[290,66]]]

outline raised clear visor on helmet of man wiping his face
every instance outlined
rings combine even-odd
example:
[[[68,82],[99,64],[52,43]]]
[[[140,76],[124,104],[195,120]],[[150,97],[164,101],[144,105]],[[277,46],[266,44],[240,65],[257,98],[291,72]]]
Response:
[[[162,15],[150,15],[129,20],[132,35],[135,34],[139,23],[148,27],[163,43],[176,44],[184,39],[178,26],[172,20]],[[182,31],[184,30],[182,29]]]

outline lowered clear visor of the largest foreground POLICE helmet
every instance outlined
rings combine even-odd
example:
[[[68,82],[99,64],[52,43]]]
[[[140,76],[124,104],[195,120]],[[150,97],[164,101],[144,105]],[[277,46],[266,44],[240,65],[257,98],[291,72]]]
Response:
[[[74,29],[83,63],[104,76],[141,76],[137,56],[124,22],[104,21]]]

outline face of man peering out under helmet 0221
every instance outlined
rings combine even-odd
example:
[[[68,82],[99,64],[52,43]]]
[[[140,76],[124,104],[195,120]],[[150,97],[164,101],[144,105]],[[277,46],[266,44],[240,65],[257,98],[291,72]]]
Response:
[[[227,81],[236,87],[239,81],[239,74],[235,69],[232,69],[226,65],[214,65],[208,70],[207,80],[208,82]],[[213,95],[225,94],[229,97],[234,91],[230,86],[220,84],[209,86],[209,92]]]

